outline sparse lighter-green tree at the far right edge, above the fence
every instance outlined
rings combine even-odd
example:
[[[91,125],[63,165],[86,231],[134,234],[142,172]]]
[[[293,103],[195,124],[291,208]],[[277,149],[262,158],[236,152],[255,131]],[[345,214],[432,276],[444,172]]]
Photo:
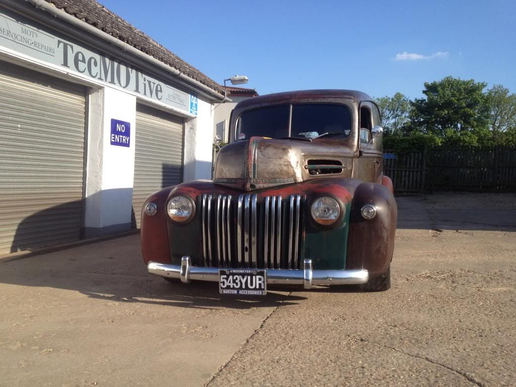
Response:
[[[503,143],[503,134],[516,128],[516,94],[509,94],[509,89],[502,85],[494,85],[486,96],[492,142]]]

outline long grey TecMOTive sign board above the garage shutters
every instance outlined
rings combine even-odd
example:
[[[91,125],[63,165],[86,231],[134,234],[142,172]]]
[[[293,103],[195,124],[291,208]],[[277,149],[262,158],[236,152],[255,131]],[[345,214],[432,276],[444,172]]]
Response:
[[[191,96],[195,94],[176,89],[131,63],[95,51],[50,28],[0,8],[0,48],[2,46],[197,115],[197,109],[191,108]]]

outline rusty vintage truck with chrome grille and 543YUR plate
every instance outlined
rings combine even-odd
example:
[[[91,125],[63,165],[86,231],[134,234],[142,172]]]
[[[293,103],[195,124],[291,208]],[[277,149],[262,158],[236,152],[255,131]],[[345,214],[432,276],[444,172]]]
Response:
[[[167,280],[390,288],[397,207],[382,173],[376,104],[351,90],[257,96],[236,105],[213,181],[144,203],[143,260]]]

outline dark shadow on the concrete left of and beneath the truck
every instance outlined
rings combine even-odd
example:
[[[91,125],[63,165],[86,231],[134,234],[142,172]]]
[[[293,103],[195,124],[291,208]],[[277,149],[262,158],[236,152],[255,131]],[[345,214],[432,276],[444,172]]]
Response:
[[[139,243],[139,235],[131,235],[20,257],[0,263],[0,283],[68,289],[99,300],[201,309],[265,308],[296,304],[305,299],[288,295],[294,290],[292,286],[269,287],[265,297],[237,297],[220,295],[216,282],[165,281],[147,273]]]

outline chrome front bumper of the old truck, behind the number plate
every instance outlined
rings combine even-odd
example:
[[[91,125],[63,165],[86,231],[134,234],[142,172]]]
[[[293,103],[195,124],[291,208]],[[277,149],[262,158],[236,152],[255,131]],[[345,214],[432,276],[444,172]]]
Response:
[[[310,289],[312,285],[363,284],[369,279],[367,270],[313,270],[312,260],[304,260],[304,269],[265,269],[268,284],[295,284]],[[183,283],[191,280],[219,281],[217,267],[192,266],[189,256],[181,259],[181,266],[150,261],[147,271],[165,278],[179,278]]]

